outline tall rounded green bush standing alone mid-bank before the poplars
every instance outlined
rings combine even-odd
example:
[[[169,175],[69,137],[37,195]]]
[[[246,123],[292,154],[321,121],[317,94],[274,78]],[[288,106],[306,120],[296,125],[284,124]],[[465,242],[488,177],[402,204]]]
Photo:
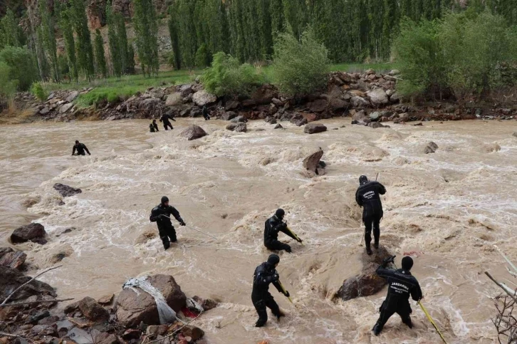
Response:
[[[327,48],[316,40],[312,28],[302,33],[300,41],[288,29],[274,43],[273,83],[286,95],[306,95],[325,85],[329,63]]]

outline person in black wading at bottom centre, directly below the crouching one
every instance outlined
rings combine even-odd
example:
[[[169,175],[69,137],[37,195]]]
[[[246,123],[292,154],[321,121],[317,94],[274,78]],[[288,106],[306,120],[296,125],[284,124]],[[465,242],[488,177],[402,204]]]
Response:
[[[268,257],[268,261],[263,262],[257,266],[253,275],[253,291],[251,291],[251,301],[255,306],[256,313],[258,313],[258,320],[255,323],[255,327],[262,327],[266,325],[268,320],[268,313],[266,307],[271,309],[273,315],[280,320],[281,317],[285,316],[278,304],[276,303],[271,293],[269,293],[269,283],[273,283],[278,292],[283,293],[278,279],[278,272],[276,272],[276,266],[280,262],[280,257],[276,254],[271,254]],[[289,297],[289,292],[283,293],[284,296]]]

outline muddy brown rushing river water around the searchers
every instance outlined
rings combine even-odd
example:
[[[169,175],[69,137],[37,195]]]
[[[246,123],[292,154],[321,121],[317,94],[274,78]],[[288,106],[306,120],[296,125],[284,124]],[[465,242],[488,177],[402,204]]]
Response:
[[[177,137],[191,123],[209,136]],[[196,320],[210,343],[439,343],[417,306],[414,329],[394,316],[372,336],[385,290],[332,301],[343,280],[361,269],[357,177],[380,172],[387,188],[381,244],[398,262],[404,252],[419,252],[412,272],[449,343],[494,343],[490,298],[498,291],[484,271],[503,281],[509,276],[494,244],[517,261],[517,138],[511,135],[517,123],[377,130],[348,120],[324,123],[329,131],[317,135],[263,122],[234,133],[216,120],[178,120],[172,132],[157,133],[143,120],[0,127],[1,244],[9,245],[16,226],[43,224],[48,244],[18,247],[33,273],[52,266],[53,255],[69,254],[61,269],[41,277],[61,297],[100,297],[133,276],[171,274],[187,296],[221,301]],[[92,155],[72,157],[75,140]],[[429,141],[439,150],[424,155]],[[318,147],[327,173],[309,179],[301,162]],[[53,190],[56,182],[83,193],[63,199]],[[187,224],[218,239],[177,227],[179,241],[168,251],[158,237],[141,240],[157,231],[149,214],[163,195]],[[281,237],[293,246],[293,254],[281,254],[278,271],[294,305],[273,288],[288,316],[258,329],[252,275],[268,256],[263,223],[278,207],[306,245]],[[69,227],[75,229],[63,234]]]

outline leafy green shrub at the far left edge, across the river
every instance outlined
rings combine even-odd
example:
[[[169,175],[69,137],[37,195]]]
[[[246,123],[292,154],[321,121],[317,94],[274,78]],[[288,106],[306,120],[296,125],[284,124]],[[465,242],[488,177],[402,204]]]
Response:
[[[6,46],[0,51],[0,61],[9,66],[9,80],[17,80],[17,89],[28,90],[38,79],[32,53],[27,48]]]

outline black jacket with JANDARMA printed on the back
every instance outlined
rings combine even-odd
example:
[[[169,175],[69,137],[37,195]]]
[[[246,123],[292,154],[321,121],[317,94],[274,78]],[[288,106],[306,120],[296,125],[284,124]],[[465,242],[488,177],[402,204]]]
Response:
[[[408,302],[409,296],[414,301],[419,301],[422,298],[422,289],[420,289],[417,278],[414,278],[409,271],[404,269],[385,269],[381,265],[376,272],[377,275],[387,280],[388,293],[386,301],[388,303]]]

